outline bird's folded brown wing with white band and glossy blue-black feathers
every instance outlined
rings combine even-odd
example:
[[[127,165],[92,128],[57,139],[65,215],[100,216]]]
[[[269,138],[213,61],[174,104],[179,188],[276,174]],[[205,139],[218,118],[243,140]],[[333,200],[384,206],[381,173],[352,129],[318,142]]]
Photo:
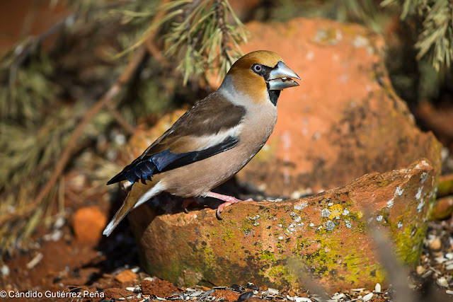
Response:
[[[234,148],[239,143],[246,113],[213,93],[185,112],[137,159],[107,182],[149,180],[153,175],[189,165]]]

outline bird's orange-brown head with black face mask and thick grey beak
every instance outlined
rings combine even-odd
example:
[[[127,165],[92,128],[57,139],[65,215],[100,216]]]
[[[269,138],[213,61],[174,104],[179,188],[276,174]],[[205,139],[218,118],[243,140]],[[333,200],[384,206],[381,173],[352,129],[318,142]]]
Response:
[[[225,80],[231,82],[237,92],[251,95],[257,102],[267,99],[263,98],[263,94],[268,94],[276,105],[280,91],[299,86],[292,78],[300,80],[278,54],[258,50],[238,59],[229,69]]]

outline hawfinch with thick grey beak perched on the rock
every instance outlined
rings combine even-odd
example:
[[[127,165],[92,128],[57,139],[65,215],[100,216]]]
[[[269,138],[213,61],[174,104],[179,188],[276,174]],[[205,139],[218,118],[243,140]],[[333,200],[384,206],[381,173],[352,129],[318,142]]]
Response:
[[[225,207],[241,202],[211,190],[239,172],[268,141],[277,122],[280,92],[299,86],[294,79],[300,80],[268,50],[234,62],[217,91],[185,112],[107,182],[128,180],[132,187],[103,235],[110,236],[129,211],[161,192],[221,199],[217,217]]]

